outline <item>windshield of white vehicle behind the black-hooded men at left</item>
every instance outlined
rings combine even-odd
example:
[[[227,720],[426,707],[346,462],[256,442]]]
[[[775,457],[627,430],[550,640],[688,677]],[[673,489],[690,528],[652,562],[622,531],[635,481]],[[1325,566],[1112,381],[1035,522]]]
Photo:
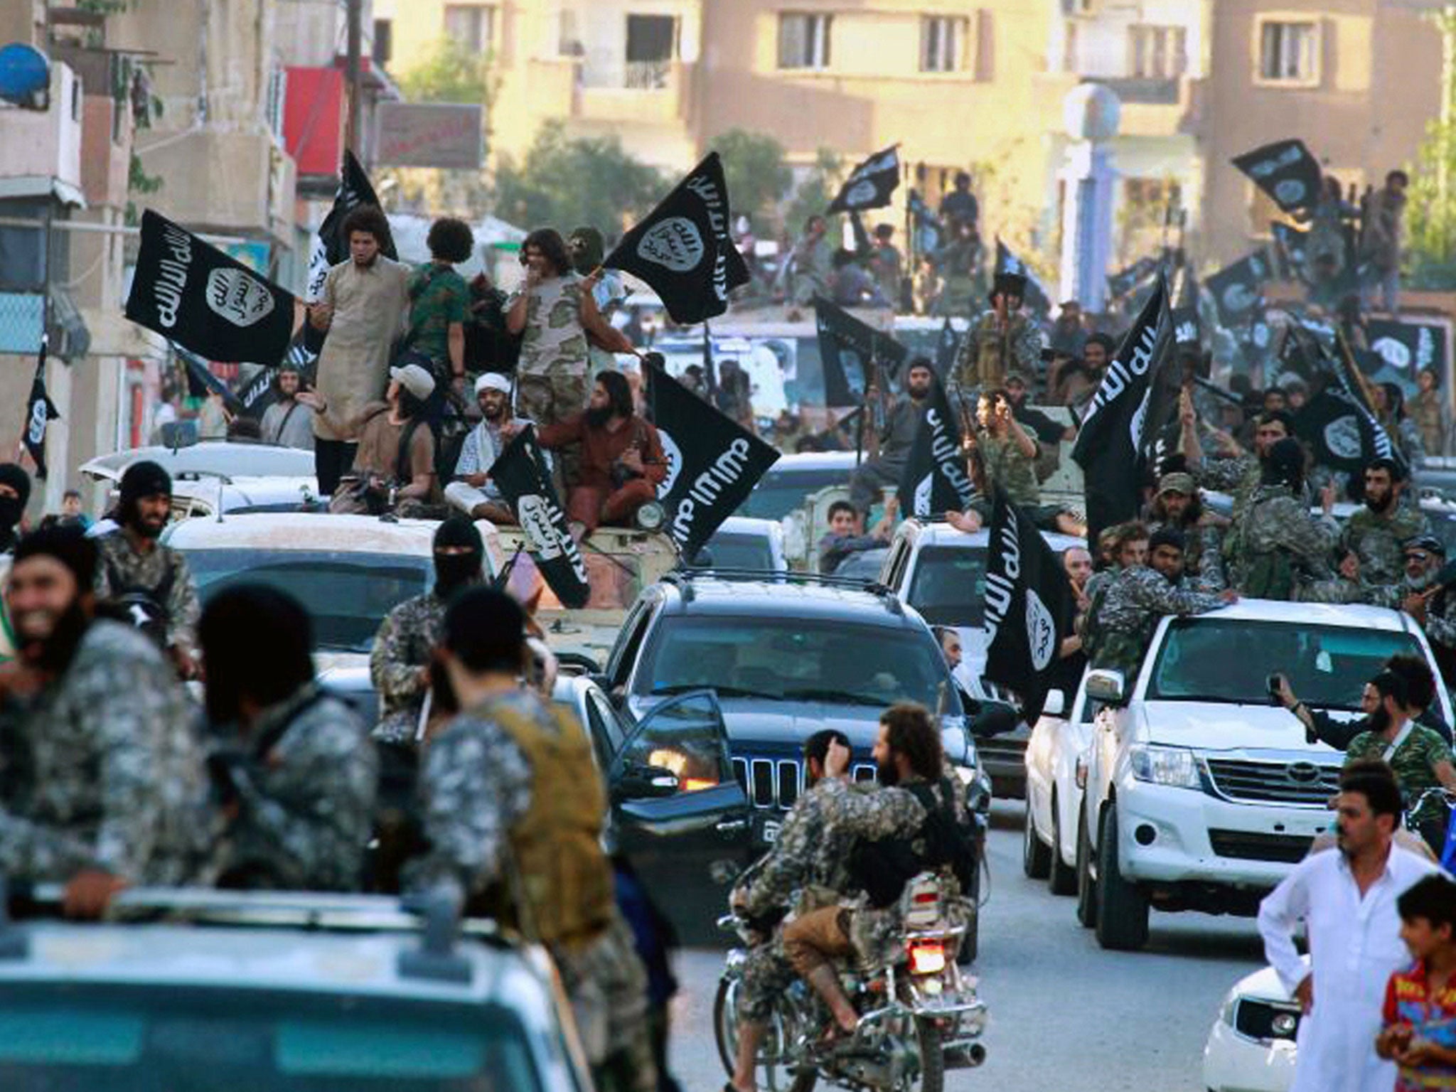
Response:
[[[319,648],[368,652],[392,607],[427,591],[428,558],[335,550],[183,549],[202,606],[233,584],[287,591],[313,617]]]

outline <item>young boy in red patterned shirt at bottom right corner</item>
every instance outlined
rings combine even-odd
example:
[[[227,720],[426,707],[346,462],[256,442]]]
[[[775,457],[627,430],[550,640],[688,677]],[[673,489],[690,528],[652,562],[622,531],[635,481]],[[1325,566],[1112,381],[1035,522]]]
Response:
[[[1390,976],[1376,1053],[1399,1066],[1395,1092],[1456,1083],[1456,882],[1428,875],[1396,900],[1415,962]]]

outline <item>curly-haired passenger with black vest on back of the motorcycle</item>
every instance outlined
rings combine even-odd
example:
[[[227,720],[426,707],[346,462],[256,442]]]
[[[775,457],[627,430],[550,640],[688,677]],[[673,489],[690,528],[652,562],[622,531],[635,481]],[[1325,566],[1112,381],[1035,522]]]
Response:
[[[964,791],[946,775],[941,732],[930,712],[914,702],[890,706],[879,718],[875,764],[884,788],[859,791],[842,780],[849,748],[831,743],[824,759],[824,783],[844,827],[859,837],[849,859],[853,900],[801,914],[783,927],[783,949],[794,968],[824,999],[839,1034],[853,1032],[859,1013],[839,983],[833,960],[858,955],[865,962],[888,961],[890,941],[900,936],[900,893],[926,868],[951,866],[955,877],[974,868],[970,843],[946,844],[952,831],[968,826]],[[936,844],[939,843],[939,844]],[[952,852],[946,852],[952,850]],[[936,859],[948,858],[948,859]],[[946,875],[955,894],[955,878]],[[954,914],[955,897],[945,906]]]

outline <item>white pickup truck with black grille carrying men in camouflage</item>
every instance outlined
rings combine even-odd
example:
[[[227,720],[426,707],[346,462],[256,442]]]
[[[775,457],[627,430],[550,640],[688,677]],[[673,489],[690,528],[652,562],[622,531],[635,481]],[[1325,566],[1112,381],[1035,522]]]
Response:
[[[1431,670],[1425,636],[1379,607],[1242,600],[1163,619],[1134,678],[1089,671],[1101,703],[1085,756],[1077,916],[1104,948],[1147,941],[1149,909],[1252,914],[1329,828],[1344,756],[1273,705],[1283,673],[1313,709],[1358,715],[1395,652]],[[1439,713],[1453,724],[1444,687]]]

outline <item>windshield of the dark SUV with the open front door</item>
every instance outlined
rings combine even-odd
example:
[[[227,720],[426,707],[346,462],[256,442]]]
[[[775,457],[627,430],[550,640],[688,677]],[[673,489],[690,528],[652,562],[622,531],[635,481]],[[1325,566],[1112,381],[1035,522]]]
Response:
[[[722,697],[936,709],[948,681],[929,632],[795,617],[673,617],[646,649],[633,692],[711,687]],[[961,712],[955,687],[948,690],[946,711]]]

